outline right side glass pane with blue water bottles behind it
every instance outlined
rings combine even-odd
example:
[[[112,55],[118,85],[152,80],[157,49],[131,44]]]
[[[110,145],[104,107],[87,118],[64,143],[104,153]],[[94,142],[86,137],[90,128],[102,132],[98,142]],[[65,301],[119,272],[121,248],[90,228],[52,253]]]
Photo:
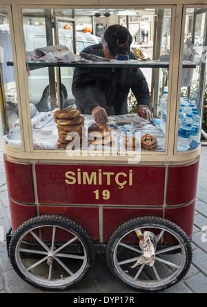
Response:
[[[193,150],[200,142],[206,70],[206,13],[207,10],[193,8],[186,12],[184,61],[195,65],[182,70],[178,151]]]

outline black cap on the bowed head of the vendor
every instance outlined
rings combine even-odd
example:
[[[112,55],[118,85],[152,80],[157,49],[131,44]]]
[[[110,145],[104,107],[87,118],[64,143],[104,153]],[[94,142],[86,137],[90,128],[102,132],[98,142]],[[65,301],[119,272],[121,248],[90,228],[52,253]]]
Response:
[[[132,35],[127,28],[119,24],[109,26],[104,33],[104,39],[112,55],[128,55],[130,52]]]

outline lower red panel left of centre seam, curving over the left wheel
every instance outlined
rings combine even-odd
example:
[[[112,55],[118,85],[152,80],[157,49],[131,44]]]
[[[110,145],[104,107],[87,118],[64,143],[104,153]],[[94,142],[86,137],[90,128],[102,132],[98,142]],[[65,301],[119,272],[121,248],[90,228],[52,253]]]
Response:
[[[39,206],[39,215],[61,215],[72,219],[83,227],[94,241],[99,240],[99,208]]]

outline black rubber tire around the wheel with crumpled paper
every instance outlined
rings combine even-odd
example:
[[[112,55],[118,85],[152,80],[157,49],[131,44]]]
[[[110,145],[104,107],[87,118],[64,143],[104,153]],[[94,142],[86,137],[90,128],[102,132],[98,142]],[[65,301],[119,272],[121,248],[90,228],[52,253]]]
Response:
[[[137,279],[133,281],[131,277],[128,277],[129,276],[128,274],[130,274],[128,273],[129,270],[126,267],[121,268],[121,264],[119,265],[119,263],[121,262],[118,261],[118,257],[119,257],[118,246],[119,246],[119,243],[121,242],[121,239],[123,239],[126,236],[126,234],[128,234],[129,232],[135,231],[135,229],[137,228],[143,228],[143,229],[161,228],[161,230],[170,232],[170,235],[173,235],[175,238],[177,238],[177,240],[179,240],[179,244],[182,246],[182,248],[177,248],[177,250],[181,251],[184,254],[184,260],[182,261],[180,272],[178,271],[177,273],[178,275],[172,276],[172,279],[168,277],[168,279],[166,279],[167,282],[165,282],[164,279],[161,279],[161,281],[158,283],[154,280],[152,281],[151,284],[148,284],[147,286],[146,286],[146,282],[142,281],[141,279],[139,282],[137,281]],[[137,243],[138,242],[139,240],[137,241]],[[139,248],[139,244],[137,244],[137,248]],[[125,252],[127,253],[127,250],[125,250]],[[167,254],[169,255],[169,252],[168,253],[166,252],[165,255]],[[133,255],[133,257],[134,256],[135,255]],[[126,257],[126,254],[124,254],[124,257]],[[130,288],[139,290],[141,292],[149,292],[149,293],[159,291],[159,290],[164,290],[166,288],[170,288],[171,286],[174,286],[175,284],[177,284],[177,282],[179,282],[182,278],[184,278],[184,276],[188,272],[192,258],[193,258],[193,252],[192,252],[190,240],[188,239],[186,233],[183,230],[181,230],[179,226],[172,223],[171,221],[168,221],[166,219],[161,219],[159,217],[139,217],[139,218],[131,219],[130,221],[126,221],[126,223],[119,226],[119,228],[117,228],[117,230],[113,232],[112,236],[110,237],[110,240],[108,241],[108,246],[106,248],[106,260],[107,260],[108,267],[110,268],[110,271],[112,272],[112,274],[115,275],[115,277],[117,277],[119,280],[124,282],[124,284],[127,284],[128,286],[130,286]],[[155,253],[155,259],[156,259],[156,253]],[[155,264],[156,264],[156,260],[155,260]],[[124,264],[124,266],[126,266],[126,264]],[[130,266],[132,266],[132,263],[130,263]],[[128,265],[128,267],[130,266]],[[145,268],[150,268],[150,267],[145,265]],[[172,273],[172,275],[174,275],[174,273]]]

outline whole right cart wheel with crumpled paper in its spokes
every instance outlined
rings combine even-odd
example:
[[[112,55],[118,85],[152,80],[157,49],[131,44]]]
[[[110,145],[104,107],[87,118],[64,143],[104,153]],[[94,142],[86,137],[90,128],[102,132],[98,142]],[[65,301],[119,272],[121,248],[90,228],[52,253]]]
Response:
[[[152,266],[135,264],[143,255],[135,232],[138,228],[141,232],[153,232],[159,241]],[[173,239],[173,244],[161,244],[164,236]],[[129,239],[135,244],[129,244]],[[177,284],[188,272],[192,257],[186,233],[171,221],[158,217],[140,217],[122,224],[110,237],[106,249],[108,267],[115,277],[144,292],[164,290]]]

